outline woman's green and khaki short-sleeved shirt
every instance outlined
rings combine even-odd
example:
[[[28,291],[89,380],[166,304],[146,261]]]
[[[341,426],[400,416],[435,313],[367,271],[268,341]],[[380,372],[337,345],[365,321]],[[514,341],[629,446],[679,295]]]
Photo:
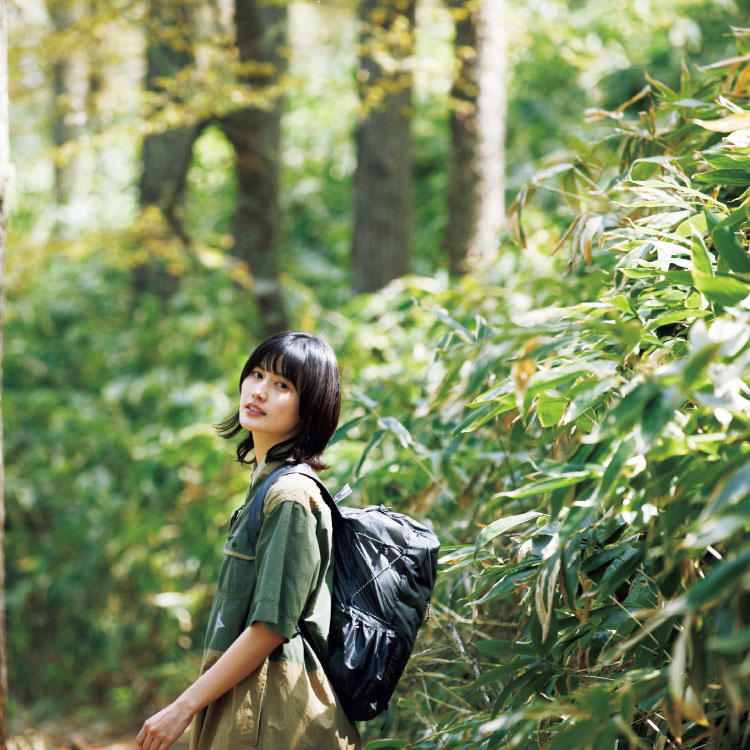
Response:
[[[295,626],[304,618],[325,647],[331,614],[331,513],[315,482],[289,474],[271,487],[256,549],[247,534],[260,480],[253,474],[245,504],[230,529],[211,605],[201,672],[254,622],[286,642],[247,678],[200,711],[191,750],[354,750],[360,738],[344,714],[310,645]]]

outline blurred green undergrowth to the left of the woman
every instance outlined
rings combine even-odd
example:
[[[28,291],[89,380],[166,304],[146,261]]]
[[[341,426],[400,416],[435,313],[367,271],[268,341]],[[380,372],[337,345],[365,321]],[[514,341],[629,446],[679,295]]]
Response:
[[[221,511],[245,483],[211,434],[252,335],[231,287],[204,273],[167,312],[127,284],[100,255],[57,258],[7,323],[11,694],[82,720],[197,668],[170,678],[200,649]]]

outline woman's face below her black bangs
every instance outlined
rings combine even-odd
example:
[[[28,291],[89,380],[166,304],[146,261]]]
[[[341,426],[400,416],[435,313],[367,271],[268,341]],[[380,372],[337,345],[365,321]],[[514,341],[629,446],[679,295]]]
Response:
[[[294,383],[261,367],[242,381],[239,411],[240,424],[270,445],[294,437],[299,430],[299,394]]]

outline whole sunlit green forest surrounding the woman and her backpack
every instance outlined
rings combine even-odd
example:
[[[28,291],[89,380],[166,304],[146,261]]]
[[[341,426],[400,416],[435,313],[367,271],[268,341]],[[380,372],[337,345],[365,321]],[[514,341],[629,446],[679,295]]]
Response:
[[[368,750],[750,748],[748,0],[1,5],[0,744],[196,677],[301,329],[327,485],[441,541]]]

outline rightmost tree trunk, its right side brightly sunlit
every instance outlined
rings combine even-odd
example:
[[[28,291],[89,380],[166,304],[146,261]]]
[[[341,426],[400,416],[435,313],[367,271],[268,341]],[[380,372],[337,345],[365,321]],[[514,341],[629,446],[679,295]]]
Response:
[[[443,244],[453,275],[491,262],[504,219],[505,0],[456,8],[448,224]]]

